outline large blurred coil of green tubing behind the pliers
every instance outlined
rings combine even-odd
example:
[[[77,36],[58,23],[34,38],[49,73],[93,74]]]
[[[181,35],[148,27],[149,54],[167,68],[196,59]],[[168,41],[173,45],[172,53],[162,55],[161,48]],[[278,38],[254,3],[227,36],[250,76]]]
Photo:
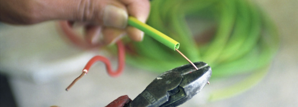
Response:
[[[201,35],[190,30],[187,19],[191,18],[211,22],[198,31],[214,26],[209,27],[214,32],[206,43],[200,43]],[[211,79],[258,73],[270,65],[279,46],[271,20],[246,0],[152,0],[147,24],[178,41],[179,50],[192,62],[209,64]],[[141,69],[165,72],[188,63],[147,35],[143,42],[130,42],[128,47],[133,51],[127,53],[126,62]]]

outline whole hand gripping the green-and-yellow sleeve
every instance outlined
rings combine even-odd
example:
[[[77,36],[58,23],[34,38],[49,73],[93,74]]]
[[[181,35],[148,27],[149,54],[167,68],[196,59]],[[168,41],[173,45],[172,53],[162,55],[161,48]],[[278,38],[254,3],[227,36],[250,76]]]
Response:
[[[145,22],[149,11],[148,0],[1,0],[0,2],[1,22],[21,25],[48,20],[84,22],[88,24],[86,38],[92,41],[92,38],[102,33],[106,44],[116,42],[125,33],[132,40],[141,41],[144,33],[127,26],[127,17],[131,15]]]

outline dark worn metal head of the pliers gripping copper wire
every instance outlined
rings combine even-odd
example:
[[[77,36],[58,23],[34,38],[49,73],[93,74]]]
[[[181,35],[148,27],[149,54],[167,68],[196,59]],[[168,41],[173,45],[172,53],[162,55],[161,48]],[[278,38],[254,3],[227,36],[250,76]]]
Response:
[[[211,67],[204,62],[187,64],[162,73],[128,105],[129,107],[175,107],[191,99],[209,81]]]

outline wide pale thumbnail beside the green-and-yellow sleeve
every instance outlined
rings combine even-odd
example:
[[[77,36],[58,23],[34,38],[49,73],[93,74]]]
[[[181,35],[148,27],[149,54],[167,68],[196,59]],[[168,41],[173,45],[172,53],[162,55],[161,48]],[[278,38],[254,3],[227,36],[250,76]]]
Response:
[[[114,5],[107,5],[103,12],[103,24],[106,26],[125,28],[127,26],[127,12]]]

